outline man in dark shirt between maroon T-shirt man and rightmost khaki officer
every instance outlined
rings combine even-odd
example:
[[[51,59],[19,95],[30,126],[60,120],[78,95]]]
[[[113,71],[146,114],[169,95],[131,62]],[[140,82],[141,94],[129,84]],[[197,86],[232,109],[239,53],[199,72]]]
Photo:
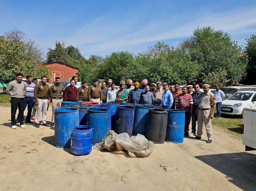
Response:
[[[200,85],[199,84],[195,84],[194,85],[194,89],[195,92],[193,92],[192,98],[193,98],[193,110],[192,110],[192,132],[194,136],[196,136],[196,121],[197,121],[197,115],[196,115],[196,111],[197,111],[197,102],[201,96],[201,94],[203,93],[202,91],[200,91]]]

